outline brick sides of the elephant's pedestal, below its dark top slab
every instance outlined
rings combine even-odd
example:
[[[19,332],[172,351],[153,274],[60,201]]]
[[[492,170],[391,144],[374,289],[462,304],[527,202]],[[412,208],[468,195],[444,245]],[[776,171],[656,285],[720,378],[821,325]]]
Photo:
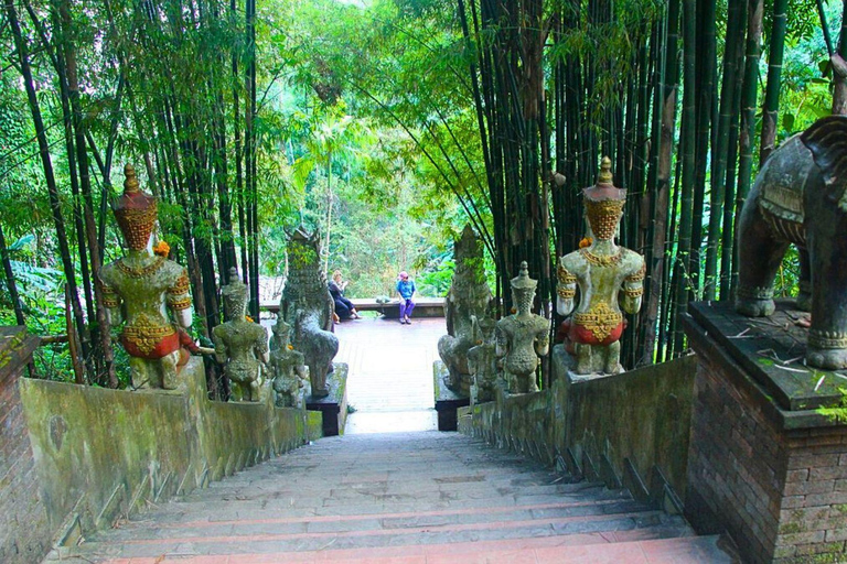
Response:
[[[728,532],[749,562],[845,562],[847,429],[815,424],[814,412],[791,429],[725,351],[693,341],[688,520],[700,533]]]

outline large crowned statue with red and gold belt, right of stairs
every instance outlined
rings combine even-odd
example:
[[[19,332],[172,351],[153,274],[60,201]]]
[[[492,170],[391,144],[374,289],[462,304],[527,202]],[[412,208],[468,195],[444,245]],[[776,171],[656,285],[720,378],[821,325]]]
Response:
[[[559,258],[556,308],[560,315],[570,314],[579,285],[579,306],[562,326],[568,351],[576,356],[575,372],[619,373],[623,371],[619,339],[625,327],[619,303],[626,313],[641,307],[644,258],[614,242],[626,191],[612,184],[608,156],[597,185],[585,188],[582,197],[593,238],[587,247]]]

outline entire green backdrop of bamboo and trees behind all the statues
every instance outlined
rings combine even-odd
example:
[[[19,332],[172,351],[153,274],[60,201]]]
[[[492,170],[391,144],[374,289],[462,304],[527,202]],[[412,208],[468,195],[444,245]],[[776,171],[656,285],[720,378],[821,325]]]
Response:
[[[41,373],[119,384],[93,273],[121,253],[109,204],[124,163],[161,198],[159,237],[190,268],[201,337],[221,322],[221,274],[235,265],[258,290],[285,271],[299,224],[321,230],[351,295],[372,297],[401,269],[443,294],[471,221],[503,311],[521,260],[548,304],[605,154],[630,193],[621,240],[648,264],[624,361],[669,358],[688,300],[732,296],[733,220],[758,163],[845,111],[828,63],[847,53],[843,10],[3,0],[0,323],[58,336]]]

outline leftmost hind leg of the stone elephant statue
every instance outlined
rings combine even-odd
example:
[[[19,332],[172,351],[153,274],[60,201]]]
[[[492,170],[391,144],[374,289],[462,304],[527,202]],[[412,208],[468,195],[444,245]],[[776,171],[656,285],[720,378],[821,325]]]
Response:
[[[739,268],[736,311],[748,317],[771,315],[773,304],[773,279],[789,248],[786,241],[776,239],[759,207],[755,189],[741,209],[738,225]]]

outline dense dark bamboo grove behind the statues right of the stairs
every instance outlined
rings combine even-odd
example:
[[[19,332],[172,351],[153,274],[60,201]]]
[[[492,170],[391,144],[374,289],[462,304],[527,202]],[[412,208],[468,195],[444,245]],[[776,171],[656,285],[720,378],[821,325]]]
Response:
[[[687,303],[733,296],[736,214],[774,145],[787,1],[770,9],[761,0],[458,0],[502,288],[528,260],[540,302],[553,303],[551,260],[583,237],[579,188],[608,155],[629,191],[620,240],[647,261],[623,362],[685,351]]]

